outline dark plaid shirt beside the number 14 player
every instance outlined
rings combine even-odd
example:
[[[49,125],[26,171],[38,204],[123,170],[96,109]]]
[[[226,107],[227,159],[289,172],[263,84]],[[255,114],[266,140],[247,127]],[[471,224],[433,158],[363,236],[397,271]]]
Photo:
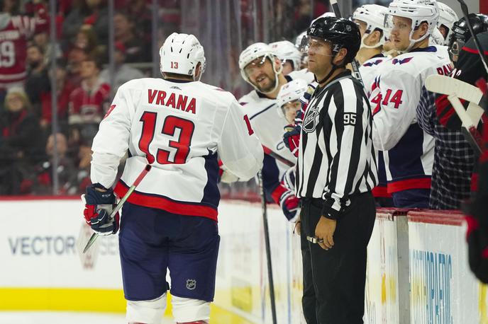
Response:
[[[475,157],[462,132],[440,125],[435,100],[436,95],[424,87],[417,106],[418,125],[436,139],[429,207],[459,209],[460,202],[470,197]]]

